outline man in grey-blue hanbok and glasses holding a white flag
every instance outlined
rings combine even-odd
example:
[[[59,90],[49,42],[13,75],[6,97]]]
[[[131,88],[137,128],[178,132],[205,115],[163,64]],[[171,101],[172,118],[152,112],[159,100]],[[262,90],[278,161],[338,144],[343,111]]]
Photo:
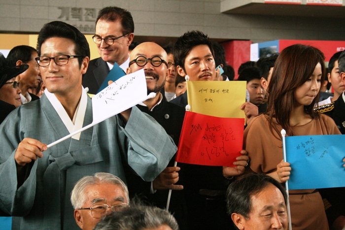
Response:
[[[91,99],[81,86],[90,50],[85,36],[63,22],[42,28],[37,50],[47,90],[0,126],[0,210],[14,216],[12,229],[78,229],[69,197],[80,178],[109,172],[126,182],[128,164],[152,181],[176,146],[154,119],[133,107],[47,149],[92,123]]]

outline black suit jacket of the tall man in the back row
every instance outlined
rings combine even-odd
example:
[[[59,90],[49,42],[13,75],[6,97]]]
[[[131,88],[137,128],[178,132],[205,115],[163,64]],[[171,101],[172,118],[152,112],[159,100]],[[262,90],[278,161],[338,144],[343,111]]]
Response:
[[[102,58],[93,59],[90,61],[86,73],[83,74],[81,84],[84,88],[89,88],[89,94],[96,94],[109,71],[108,65]]]

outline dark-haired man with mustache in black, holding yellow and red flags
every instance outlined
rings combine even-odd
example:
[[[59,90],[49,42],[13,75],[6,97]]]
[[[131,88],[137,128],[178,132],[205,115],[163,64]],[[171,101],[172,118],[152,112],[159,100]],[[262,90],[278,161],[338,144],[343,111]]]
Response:
[[[215,70],[212,44],[207,35],[200,31],[191,31],[180,36],[175,43],[173,56],[178,74],[182,77],[188,75],[190,81],[213,81],[219,77],[219,70]],[[187,93],[171,102],[184,108],[188,103]],[[256,107],[249,102],[242,105],[247,118],[252,116],[249,105],[253,106],[251,108]],[[244,150],[241,153],[246,155]],[[240,156],[236,160],[236,167],[184,165],[183,190],[190,229],[232,228],[231,220],[226,214],[225,191],[230,179],[243,173],[248,157]]]

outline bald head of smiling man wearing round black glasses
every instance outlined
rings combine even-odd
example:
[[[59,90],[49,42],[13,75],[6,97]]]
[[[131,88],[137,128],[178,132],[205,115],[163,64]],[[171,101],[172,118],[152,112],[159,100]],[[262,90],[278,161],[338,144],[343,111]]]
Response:
[[[150,60],[148,60],[150,59]],[[154,64],[152,65],[152,59]],[[134,60],[137,60],[135,62]],[[138,66],[138,60],[141,62]],[[145,60],[147,60],[146,64]],[[134,61],[134,62],[132,62]],[[160,64],[160,65],[159,65]],[[166,77],[168,75],[168,55],[165,50],[154,42],[143,42],[139,44],[130,55],[130,66],[127,68],[127,74],[144,69],[148,93],[158,93],[164,88]]]

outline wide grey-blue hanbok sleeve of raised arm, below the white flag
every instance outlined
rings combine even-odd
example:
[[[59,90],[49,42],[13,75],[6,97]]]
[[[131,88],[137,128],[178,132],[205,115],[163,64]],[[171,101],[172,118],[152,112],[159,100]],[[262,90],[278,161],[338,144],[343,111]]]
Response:
[[[136,106],[125,125],[118,119],[118,138],[131,168],[145,181],[153,181],[161,173],[177,147],[151,116],[142,113]]]

